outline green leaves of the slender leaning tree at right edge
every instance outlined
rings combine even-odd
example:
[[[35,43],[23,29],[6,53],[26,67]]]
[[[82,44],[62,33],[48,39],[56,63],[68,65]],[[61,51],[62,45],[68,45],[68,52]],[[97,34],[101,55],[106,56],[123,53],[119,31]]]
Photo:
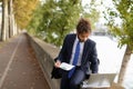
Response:
[[[133,1],[113,0],[116,10],[109,9],[109,26],[111,32],[120,40],[120,47],[127,44],[133,50]],[[121,20],[116,24],[116,18]]]

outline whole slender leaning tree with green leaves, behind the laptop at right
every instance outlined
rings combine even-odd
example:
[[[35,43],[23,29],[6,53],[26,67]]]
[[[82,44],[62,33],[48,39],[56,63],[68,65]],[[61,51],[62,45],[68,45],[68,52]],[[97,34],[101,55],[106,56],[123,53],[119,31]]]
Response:
[[[106,17],[106,19],[109,20],[111,32],[119,39],[119,47],[126,46],[117,81],[122,85],[129,60],[133,52],[133,1],[113,0],[113,3],[115,9],[109,8],[110,17]],[[117,19],[121,22],[116,23]]]

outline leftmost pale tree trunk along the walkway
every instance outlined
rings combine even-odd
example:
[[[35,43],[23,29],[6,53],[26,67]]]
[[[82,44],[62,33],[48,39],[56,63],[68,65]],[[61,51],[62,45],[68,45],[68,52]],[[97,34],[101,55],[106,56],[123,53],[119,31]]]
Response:
[[[2,0],[2,27],[1,27],[1,40],[6,41],[8,36],[8,0]]]

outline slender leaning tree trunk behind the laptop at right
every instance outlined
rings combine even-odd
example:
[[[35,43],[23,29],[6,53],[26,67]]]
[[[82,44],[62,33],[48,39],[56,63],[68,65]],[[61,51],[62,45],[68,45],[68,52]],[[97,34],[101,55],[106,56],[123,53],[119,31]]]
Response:
[[[129,63],[129,60],[131,59],[131,53],[132,53],[132,51],[127,46],[126,50],[125,50],[125,53],[124,53],[124,57],[123,57],[120,75],[119,75],[119,80],[117,80],[119,85],[123,83],[124,76],[125,76],[126,68],[127,68],[127,63]]]

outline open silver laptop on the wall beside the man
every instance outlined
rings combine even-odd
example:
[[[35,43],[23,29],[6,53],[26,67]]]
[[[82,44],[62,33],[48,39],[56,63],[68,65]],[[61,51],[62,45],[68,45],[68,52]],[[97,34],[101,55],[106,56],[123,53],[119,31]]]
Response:
[[[90,78],[83,81],[82,88],[109,88],[115,76],[116,73],[91,73]]]

